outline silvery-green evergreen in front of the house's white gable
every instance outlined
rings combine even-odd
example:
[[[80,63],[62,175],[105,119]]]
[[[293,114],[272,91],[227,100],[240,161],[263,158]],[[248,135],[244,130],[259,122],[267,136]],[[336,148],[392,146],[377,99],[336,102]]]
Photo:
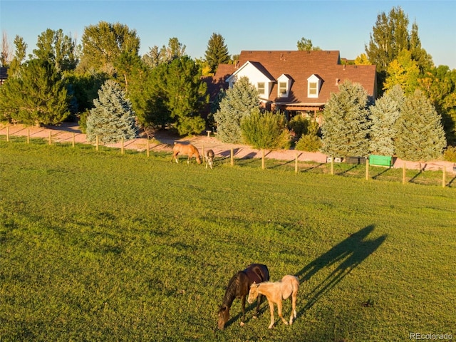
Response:
[[[220,109],[214,113],[218,138],[222,142],[242,142],[241,120],[259,107],[258,90],[242,77],[228,89],[220,101]]]

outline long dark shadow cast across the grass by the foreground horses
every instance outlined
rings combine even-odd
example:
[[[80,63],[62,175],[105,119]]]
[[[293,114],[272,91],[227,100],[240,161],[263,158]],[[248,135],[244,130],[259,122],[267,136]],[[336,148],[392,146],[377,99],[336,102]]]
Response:
[[[351,234],[350,237],[343,240],[343,242],[336,244],[328,252],[321,254],[320,257],[312,261],[310,264],[301,269],[296,276],[299,277],[299,282],[303,283],[308,281],[318,271],[339,263],[337,268],[329,274],[326,279],[321,281],[320,284],[315,286],[309,294],[306,294],[307,304],[299,312],[301,315],[304,311],[311,309],[312,306],[324,296],[328,291],[331,291],[347,274],[355,269],[361,262],[366,260],[383,242],[385,242],[386,235],[382,235],[377,239],[367,240],[369,234],[374,229],[371,224],[364,227],[359,232]]]

